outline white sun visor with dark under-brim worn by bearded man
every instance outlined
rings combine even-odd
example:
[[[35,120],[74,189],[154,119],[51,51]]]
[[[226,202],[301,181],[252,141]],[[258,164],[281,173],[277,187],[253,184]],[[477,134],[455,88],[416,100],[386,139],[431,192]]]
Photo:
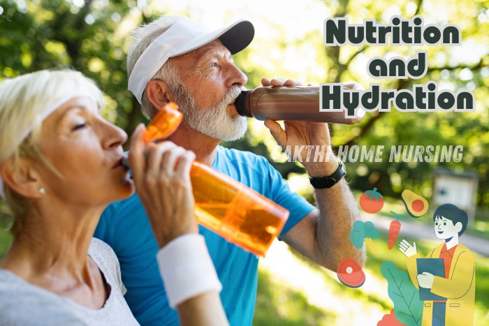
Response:
[[[196,50],[219,38],[231,54],[243,50],[254,36],[254,27],[239,20],[212,31],[201,22],[184,17],[158,36],[140,55],[129,76],[129,91],[141,103],[147,83],[171,57]]]

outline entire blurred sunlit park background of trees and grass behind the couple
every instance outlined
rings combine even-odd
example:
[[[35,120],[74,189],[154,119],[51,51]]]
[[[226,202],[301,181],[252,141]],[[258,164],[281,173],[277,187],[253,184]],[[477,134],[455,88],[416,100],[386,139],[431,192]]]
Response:
[[[410,189],[431,202],[433,175],[439,168],[476,178],[473,207],[475,221],[468,235],[489,242],[489,1],[393,1],[393,0],[249,0],[249,1],[13,1],[0,0],[0,80],[53,66],[71,66],[92,77],[106,94],[105,117],[129,134],[145,121],[137,101],[126,90],[125,54],[130,32],[161,14],[189,15],[210,27],[247,19],[255,27],[254,41],[235,55],[236,64],[248,76],[247,87],[260,85],[262,77],[289,77],[305,84],[354,80],[365,88],[374,82],[367,75],[372,57],[413,57],[428,51],[428,74],[421,80],[381,80],[384,89],[412,89],[413,84],[435,80],[439,89],[468,89],[476,96],[476,112],[373,112],[358,126],[333,126],[333,145],[462,145],[460,163],[346,162],[351,188],[358,198],[378,188],[385,195],[388,212],[404,213],[400,193]],[[458,24],[461,47],[325,47],[323,20],[349,17],[389,22],[392,15],[422,15],[425,24]],[[379,82],[378,80],[376,82]],[[272,161],[277,144],[263,122],[249,119],[249,132],[227,147],[254,151]],[[291,188],[314,202],[313,189],[299,163],[275,163]],[[428,217],[413,223],[432,225]],[[384,212],[385,211],[385,212]],[[3,229],[10,223],[0,200]],[[388,217],[387,217],[388,216]],[[365,219],[372,216],[363,216]],[[412,222],[412,221],[411,221]],[[375,222],[374,222],[375,223]],[[428,227],[427,226],[427,227]],[[401,236],[402,237],[402,231]],[[374,240],[379,252],[367,251],[367,281],[357,289],[346,288],[336,273],[314,266],[282,242],[272,245],[261,260],[254,325],[377,325],[393,309],[387,282],[380,273],[385,260],[406,269],[404,256],[386,249],[387,234]],[[413,241],[416,237],[407,237]],[[0,257],[11,238],[0,232]],[[461,237],[464,243],[464,237]],[[416,239],[418,251],[428,253],[435,236]],[[489,245],[488,245],[489,246]],[[489,258],[476,255],[476,325],[489,323]]]

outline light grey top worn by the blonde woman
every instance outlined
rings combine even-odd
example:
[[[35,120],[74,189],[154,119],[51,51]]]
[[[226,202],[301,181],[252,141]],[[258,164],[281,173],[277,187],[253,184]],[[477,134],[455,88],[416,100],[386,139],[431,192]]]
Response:
[[[0,325],[139,325],[124,299],[126,288],[114,251],[94,238],[88,254],[111,289],[101,309],[82,306],[0,269]]]

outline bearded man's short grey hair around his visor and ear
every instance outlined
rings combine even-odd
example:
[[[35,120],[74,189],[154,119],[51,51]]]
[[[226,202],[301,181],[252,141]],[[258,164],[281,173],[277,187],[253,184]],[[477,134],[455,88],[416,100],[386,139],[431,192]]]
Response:
[[[127,52],[127,77],[131,76],[134,66],[139,57],[146,50],[147,47],[158,36],[163,34],[167,29],[172,27],[175,22],[182,20],[184,16],[180,15],[163,15],[159,19],[150,22],[149,24],[143,24],[141,27],[135,29],[131,34],[133,43]],[[175,65],[171,60],[166,61],[159,71],[152,77],[152,80],[163,80],[168,86],[174,87],[175,80],[180,81],[180,77],[177,73]],[[146,91],[143,92],[141,97],[141,111],[145,117],[151,119],[154,114],[158,112],[149,99],[147,98]]]

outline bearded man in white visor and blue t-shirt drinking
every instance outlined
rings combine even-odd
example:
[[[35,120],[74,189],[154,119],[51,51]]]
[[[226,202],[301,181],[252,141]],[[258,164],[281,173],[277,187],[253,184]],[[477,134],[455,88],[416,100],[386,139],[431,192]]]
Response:
[[[219,146],[221,140],[241,138],[247,129],[247,120],[239,116],[233,104],[247,77],[235,66],[231,54],[243,50],[253,36],[254,28],[247,21],[213,31],[187,17],[165,15],[133,33],[134,43],[127,60],[129,89],[150,118],[166,103],[177,102],[184,121],[168,140],[191,149],[196,160],[289,209],[289,220],[279,239],[329,269],[335,270],[346,257],[363,264],[365,252],[349,242],[351,225],[359,213],[342,178],[345,174],[342,163],[335,158],[303,163],[317,187],[319,208],[316,208],[293,193],[265,158]],[[262,84],[298,83],[263,78]],[[286,121],[283,130],[277,122],[268,120],[265,126],[283,148],[326,145],[331,151],[326,124]],[[306,156],[307,149],[302,153],[302,157]],[[321,179],[328,176],[335,181]],[[200,226],[199,232],[206,239],[222,283],[221,300],[229,322],[251,325],[258,258],[206,228]],[[110,206],[95,236],[110,244],[117,254],[128,289],[126,301],[138,321],[143,325],[177,324],[177,313],[168,306],[156,265],[158,246],[139,198],[134,195]]]

